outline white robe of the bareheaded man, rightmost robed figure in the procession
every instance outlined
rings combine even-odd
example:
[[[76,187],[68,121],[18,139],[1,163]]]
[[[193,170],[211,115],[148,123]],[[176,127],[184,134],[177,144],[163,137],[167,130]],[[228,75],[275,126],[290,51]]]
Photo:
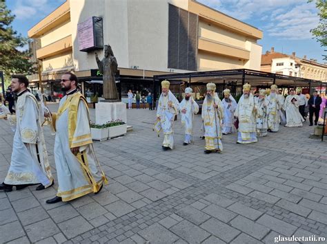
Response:
[[[297,101],[293,104],[291,100],[295,98]],[[286,111],[286,127],[301,127],[304,121],[304,118],[299,113],[299,104],[298,104],[297,95],[288,95],[284,102],[284,110]]]

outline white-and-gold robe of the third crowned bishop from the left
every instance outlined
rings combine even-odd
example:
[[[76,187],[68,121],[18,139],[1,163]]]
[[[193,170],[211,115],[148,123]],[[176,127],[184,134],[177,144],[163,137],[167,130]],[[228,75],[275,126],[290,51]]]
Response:
[[[202,104],[202,120],[204,121],[204,137],[206,139],[206,150],[208,151],[223,151],[223,144],[221,143],[221,121],[224,119],[224,111],[217,93],[208,101],[208,96],[204,98]],[[217,104],[215,109],[213,104]]]

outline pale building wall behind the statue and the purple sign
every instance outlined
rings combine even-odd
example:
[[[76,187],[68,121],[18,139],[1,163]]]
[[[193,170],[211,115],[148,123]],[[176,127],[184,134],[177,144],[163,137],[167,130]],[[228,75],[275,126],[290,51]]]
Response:
[[[80,52],[77,24],[92,16],[103,18],[103,44],[110,44],[119,67],[128,67],[128,1],[70,0],[72,22],[73,60],[76,71],[97,69],[94,52]],[[98,51],[103,58],[103,51]]]

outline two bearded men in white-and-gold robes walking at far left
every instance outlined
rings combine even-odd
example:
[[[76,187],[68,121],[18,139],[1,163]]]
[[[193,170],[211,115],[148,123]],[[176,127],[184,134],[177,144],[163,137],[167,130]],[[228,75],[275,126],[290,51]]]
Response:
[[[0,190],[11,192],[38,185],[44,190],[54,184],[42,120],[46,118],[55,131],[54,161],[57,170],[57,195],[46,203],[70,201],[90,192],[97,194],[107,183],[92,146],[88,104],[78,91],[78,80],[70,72],[61,77],[66,92],[57,113],[41,111],[37,99],[28,90],[28,78],[12,76],[11,88],[17,94],[16,114],[1,115],[14,130],[10,168]]]

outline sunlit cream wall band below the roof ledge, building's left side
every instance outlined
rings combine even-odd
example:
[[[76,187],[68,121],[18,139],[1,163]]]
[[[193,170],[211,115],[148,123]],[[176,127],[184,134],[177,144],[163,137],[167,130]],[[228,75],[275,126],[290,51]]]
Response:
[[[72,25],[70,23],[70,20],[68,20],[57,26],[54,30],[43,34],[43,36],[40,37],[41,47],[45,47],[46,45],[54,43],[55,41],[69,36],[70,34],[72,34]]]

